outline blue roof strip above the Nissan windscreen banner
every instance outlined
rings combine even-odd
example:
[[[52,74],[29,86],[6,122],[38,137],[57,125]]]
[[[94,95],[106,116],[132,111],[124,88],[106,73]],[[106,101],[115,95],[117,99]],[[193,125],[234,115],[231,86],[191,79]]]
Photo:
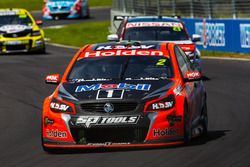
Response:
[[[128,18],[129,23],[133,22],[178,22],[181,21],[172,17],[158,17],[158,16],[140,16],[140,17],[130,17]]]

